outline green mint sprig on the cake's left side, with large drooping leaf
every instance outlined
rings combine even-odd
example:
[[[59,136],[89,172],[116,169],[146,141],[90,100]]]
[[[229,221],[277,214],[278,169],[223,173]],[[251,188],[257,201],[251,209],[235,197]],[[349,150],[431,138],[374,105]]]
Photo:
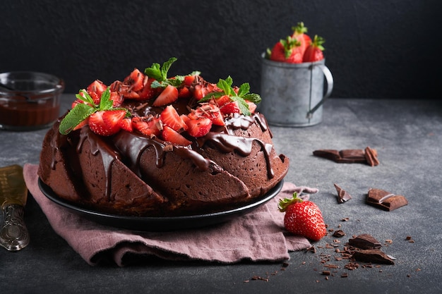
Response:
[[[76,94],[76,97],[85,103],[76,104],[76,106],[74,106],[73,109],[71,109],[71,111],[64,116],[59,125],[59,132],[62,135],[67,135],[70,133],[71,130],[73,130],[77,125],[97,111],[124,109],[113,106],[114,102],[110,97],[109,87],[107,87],[107,89],[102,93],[100,97],[100,104],[98,105],[94,103],[94,100],[92,97],[90,97],[90,94],[88,94],[86,90],[80,90],[80,93]],[[129,110],[124,110],[126,111],[126,116],[131,115]]]

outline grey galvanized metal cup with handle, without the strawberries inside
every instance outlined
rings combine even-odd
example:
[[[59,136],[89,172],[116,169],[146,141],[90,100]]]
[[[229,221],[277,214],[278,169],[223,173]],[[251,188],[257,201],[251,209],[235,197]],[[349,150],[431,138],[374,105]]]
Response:
[[[324,77],[327,82],[324,94]],[[270,125],[304,127],[321,123],[323,103],[333,90],[333,75],[325,59],[283,63],[262,55],[261,97],[258,110]]]

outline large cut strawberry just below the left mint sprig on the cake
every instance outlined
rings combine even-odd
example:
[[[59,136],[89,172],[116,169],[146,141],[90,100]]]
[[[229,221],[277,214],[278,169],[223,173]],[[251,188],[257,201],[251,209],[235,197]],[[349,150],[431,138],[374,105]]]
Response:
[[[126,116],[124,110],[96,111],[89,117],[89,128],[97,135],[114,135],[121,129],[121,120]]]

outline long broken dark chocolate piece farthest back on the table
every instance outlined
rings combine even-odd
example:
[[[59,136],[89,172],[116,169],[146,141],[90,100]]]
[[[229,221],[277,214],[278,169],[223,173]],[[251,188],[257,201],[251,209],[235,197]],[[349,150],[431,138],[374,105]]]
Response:
[[[377,166],[378,152],[376,149],[366,147],[365,149],[318,149],[313,151],[316,157],[323,157],[340,164],[368,164],[369,166]]]

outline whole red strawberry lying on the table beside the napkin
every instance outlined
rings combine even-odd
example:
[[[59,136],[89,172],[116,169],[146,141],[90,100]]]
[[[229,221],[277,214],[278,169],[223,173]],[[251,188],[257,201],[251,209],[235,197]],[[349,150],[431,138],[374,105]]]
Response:
[[[280,212],[285,212],[284,226],[290,233],[318,241],[327,234],[325,223],[318,206],[311,201],[303,201],[293,193],[293,198],[280,200]]]

